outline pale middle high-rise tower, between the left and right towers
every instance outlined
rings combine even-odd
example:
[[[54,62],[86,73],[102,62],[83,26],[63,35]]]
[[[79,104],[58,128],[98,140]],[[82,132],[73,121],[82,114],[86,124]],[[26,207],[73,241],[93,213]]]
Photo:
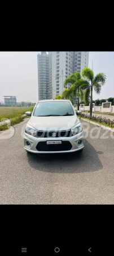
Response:
[[[72,52],[49,52],[50,97],[62,94],[64,80],[72,74]],[[69,88],[70,85],[67,86]]]

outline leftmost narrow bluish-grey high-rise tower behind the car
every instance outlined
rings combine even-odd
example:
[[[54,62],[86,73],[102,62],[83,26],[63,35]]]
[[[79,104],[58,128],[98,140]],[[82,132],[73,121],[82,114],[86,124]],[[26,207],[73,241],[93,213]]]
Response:
[[[37,55],[38,64],[38,100],[49,100],[49,54],[41,52]]]

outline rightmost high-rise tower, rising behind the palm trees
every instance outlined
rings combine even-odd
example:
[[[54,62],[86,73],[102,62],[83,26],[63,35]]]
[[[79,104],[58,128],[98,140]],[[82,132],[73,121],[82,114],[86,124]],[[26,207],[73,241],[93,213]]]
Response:
[[[88,67],[89,52],[72,52],[72,73],[82,72]]]

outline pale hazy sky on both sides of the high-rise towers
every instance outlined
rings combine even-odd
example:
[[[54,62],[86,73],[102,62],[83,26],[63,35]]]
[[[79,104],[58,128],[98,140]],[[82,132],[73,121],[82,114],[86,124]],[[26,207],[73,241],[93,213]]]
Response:
[[[20,101],[38,101],[37,55],[40,52],[0,52],[0,102],[3,96],[17,96]],[[114,52],[89,52],[89,68],[107,76],[100,94],[93,100],[114,97]]]

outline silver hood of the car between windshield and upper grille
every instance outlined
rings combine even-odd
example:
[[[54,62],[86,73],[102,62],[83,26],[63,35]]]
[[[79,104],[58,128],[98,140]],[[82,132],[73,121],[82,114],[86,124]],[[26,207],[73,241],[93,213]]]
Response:
[[[79,123],[77,115],[61,117],[30,117],[28,123],[37,130],[69,130]]]

